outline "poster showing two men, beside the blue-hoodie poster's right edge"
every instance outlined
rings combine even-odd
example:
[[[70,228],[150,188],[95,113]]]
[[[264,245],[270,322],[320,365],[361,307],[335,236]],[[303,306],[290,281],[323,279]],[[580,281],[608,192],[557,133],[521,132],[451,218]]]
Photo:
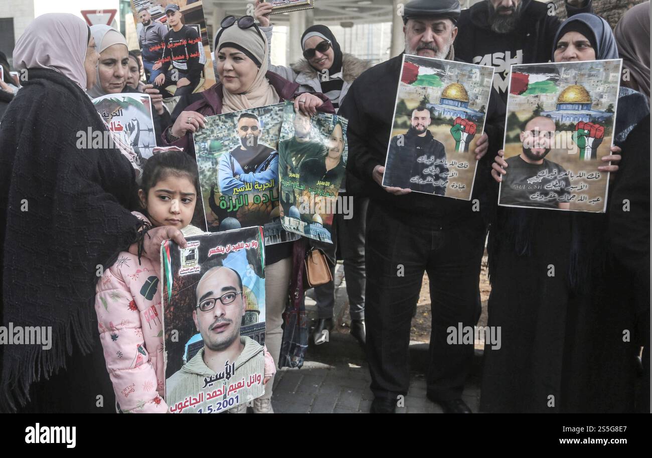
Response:
[[[319,113],[312,118],[285,102],[278,142],[280,215],[295,234],[333,243],[331,228],[346,174],[346,118]]]

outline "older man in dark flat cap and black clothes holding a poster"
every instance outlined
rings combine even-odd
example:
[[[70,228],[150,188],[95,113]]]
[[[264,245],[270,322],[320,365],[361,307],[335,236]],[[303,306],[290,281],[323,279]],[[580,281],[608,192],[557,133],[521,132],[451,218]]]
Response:
[[[407,3],[406,53],[454,59],[459,15],[456,0]],[[473,345],[448,344],[447,328],[472,327],[480,316],[483,217],[492,207],[487,191],[490,163],[480,160],[468,201],[383,187],[401,69],[398,55],[366,70],[351,85],[339,112],[349,119],[347,170],[360,179],[347,180],[347,188],[355,196],[370,197],[365,252],[366,353],[375,397],[370,411],[393,413],[399,396],[408,393],[411,319],[426,271],[432,300],[426,395],[445,412],[470,413],[462,391],[473,363]],[[492,92],[476,159],[502,144],[505,105]]]

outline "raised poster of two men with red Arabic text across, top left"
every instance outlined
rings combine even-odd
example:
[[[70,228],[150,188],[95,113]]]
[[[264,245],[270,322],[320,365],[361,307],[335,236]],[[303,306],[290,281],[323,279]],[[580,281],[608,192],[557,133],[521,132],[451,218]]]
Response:
[[[154,84],[165,99],[215,84],[202,1],[130,3],[147,83]]]

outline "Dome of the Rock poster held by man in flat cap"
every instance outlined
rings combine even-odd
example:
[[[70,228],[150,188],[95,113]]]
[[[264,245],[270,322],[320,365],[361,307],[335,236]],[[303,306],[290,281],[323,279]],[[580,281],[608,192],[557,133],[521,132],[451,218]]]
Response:
[[[404,55],[384,187],[470,200],[494,67]]]

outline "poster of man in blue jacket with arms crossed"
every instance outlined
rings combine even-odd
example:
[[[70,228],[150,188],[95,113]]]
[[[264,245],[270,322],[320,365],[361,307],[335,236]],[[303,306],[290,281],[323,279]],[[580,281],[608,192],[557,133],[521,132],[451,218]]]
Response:
[[[278,202],[283,104],[206,117],[193,134],[209,232],[263,226],[265,245],[298,239],[284,230]]]

